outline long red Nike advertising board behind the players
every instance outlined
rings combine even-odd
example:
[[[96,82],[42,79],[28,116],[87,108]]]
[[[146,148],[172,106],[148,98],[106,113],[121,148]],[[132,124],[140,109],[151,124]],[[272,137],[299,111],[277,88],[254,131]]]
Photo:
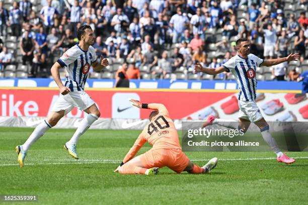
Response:
[[[128,98],[164,104],[177,120],[204,120],[210,114],[237,119],[236,89],[100,89],[88,88],[101,118],[92,128],[141,129],[148,122],[149,110],[131,106]],[[288,93],[287,93],[288,92]],[[257,104],[267,121],[308,121],[308,101],[300,90],[259,90]],[[57,88],[0,88],[0,126],[35,127],[50,112],[58,98]],[[57,125],[75,128],[87,114],[73,109]],[[142,121],[140,121],[142,119]],[[123,127],[124,126],[124,127]]]

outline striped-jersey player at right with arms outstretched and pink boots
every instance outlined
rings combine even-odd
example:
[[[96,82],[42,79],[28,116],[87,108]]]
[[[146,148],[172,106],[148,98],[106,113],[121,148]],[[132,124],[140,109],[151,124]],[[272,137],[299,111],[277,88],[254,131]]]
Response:
[[[203,68],[200,63],[194,65],[195,72],[203,72],[209,75],[217,75],[221,72],[232,72],[238,81],[241,89],[239,93],[239,121],[236,120],[224,120],[215,118],[213,115],[208,116],[206,122],[202,127],[206,127],[211,124],[218,124],[223,127],[232,129],[242,129],[244,132],[248,130],[250,123],[255,123],[261,130],[261,134],[265,142],[271,147],[271,149],[277,155],[278,162],[284,162],[286,164],[293,163],[295,160],[289,158],[286,154],[282,153],[275,139],[269,132],[269,125],[264,120],[257,104],[256,104],[256,91],[257,91],[257,78],[256,68],[257,66],[272,66],[283,62],[297,61],[299,58],[298,53],[291,53],[287,57],[263,60],[254,54],[250,54],[250,44],[247,39],[238,39],[236,46],[239,54],[230,58],[222,66],[212,69]]]

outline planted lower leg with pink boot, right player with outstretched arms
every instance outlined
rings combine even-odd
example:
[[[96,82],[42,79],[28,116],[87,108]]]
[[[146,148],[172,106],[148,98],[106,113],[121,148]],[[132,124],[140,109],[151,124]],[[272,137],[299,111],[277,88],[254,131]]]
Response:
[[[284,162],[286,164],[291,164],[291,163],[295,162],[295,159],[289,158],[286,154],[283,154],[280,151],[275,139],[272,137],[272,135],[269,132],[269,125],[265,121],[264,118],[261,118],[261,120],[259,120],[258,122],[255,122],[255,124],[260,128],[264,141],[270,146],[270,148],[277,155],[277,161],[278,162]]]

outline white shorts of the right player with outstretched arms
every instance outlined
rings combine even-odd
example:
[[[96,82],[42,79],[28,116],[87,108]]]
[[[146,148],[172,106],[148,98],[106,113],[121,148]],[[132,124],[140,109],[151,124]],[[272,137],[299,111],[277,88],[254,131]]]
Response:
[[[239,118],[249,120],[250,122],[257,122],[263,118],[256,101],[239,100],[239,107]]]

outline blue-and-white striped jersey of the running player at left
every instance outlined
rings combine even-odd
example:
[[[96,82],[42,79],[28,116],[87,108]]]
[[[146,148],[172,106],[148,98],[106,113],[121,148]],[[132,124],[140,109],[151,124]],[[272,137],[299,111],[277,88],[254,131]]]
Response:
[[[90,67],[96,60],[95,48],[92,46],[89,47],[88,51],[80,48],[78,44],[68,49],[57,60],[66,69],[64,86],[72,92],[84,89]]]

